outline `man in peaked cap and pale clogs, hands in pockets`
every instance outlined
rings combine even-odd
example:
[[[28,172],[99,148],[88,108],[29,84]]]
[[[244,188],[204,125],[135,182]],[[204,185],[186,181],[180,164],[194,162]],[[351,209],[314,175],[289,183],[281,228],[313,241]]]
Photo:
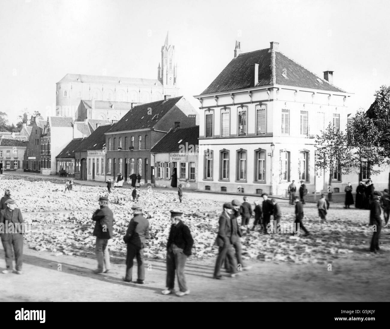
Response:
[[[184,277],[184,266],[187,257],[191,256],[193,238],[190,229],[181,221],[182,212],[170,211],[171,227],[167,243],[167,288],[162,291],[163,295],[174,293],[175,289],[175,270],[179,291],[177,296],[184,296],[190,293],[187,288],[186,278]]]

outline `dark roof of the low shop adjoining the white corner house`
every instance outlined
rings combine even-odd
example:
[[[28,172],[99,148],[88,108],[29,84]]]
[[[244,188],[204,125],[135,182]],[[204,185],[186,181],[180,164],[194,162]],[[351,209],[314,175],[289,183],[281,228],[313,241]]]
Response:
[[[152,147],[151,152],[178,152],[180,145],[198,145],[199,126],[189,128],[175,128],[161,138]],[[188,151],[188,149],[186,149]],[[193,149],[195,151],[195,149]]]

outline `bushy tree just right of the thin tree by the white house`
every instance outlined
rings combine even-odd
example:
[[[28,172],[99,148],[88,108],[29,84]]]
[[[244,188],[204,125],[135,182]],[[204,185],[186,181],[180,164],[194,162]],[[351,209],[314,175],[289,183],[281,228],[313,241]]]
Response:
[[[359,181],[362,180],[363,160],[366,159],[368,170],[371,174],[379,174],[380,169],[374,166],[381,165],[384,161],[380,148],[381,133],[376,126],[374,119],[367,116],[360,108],[356,115],[347,125],[347,140],[351,147],[351,166],[357,169]]]

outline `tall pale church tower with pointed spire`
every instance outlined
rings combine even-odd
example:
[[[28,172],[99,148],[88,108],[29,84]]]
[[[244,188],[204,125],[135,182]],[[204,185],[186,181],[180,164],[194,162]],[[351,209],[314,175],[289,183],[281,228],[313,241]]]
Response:
[[[158,79],[162,80],[163,86],[176,86],[177,66],[175,63],[175,46],[169,44],[169,32],[165,43],[161,47],[161,68],[158,65]]]

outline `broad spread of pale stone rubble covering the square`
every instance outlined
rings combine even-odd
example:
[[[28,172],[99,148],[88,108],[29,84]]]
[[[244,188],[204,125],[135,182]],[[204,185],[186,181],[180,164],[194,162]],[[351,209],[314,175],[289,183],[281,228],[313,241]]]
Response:
[[[12,178],[11,175],[5,176]],[[92,236],[94,221],[92,213],[98,208],[99,196],[107,195],[104,187],[75,185],[73,191],[64,193],[64,188],[50,180],[2,179],[2,188],[10,189],[17,207],[25,221],[32,224],[32,232],[25,236],[30,248],[50,251],[55,255],[80,256],[94,253],[95,237]],[[179,203],[176,191],[140,189],[139,205],[149,219],[151,238],[147,240],[145,257],[164,259],[170,229],[169,210],[181,210],[183,222],[189,226],[194,238],[193,258],[215,257],[214,246],[218,230],[218,216],[222,203],[213,200],[197,200]],[[125,254],[123,235],[133,217],[134,204],[131,189],[112,189],[108,195],[114,213],[114,237],[110,242],[112,253]],[[261,200],[261,199],[260,199]],[[294,207],[281,204],[282,226],[291,227]],[[329,210],[326,224],[319,224],[314,204],[305,206],[303,222],[310,231],[309,237],[291,234],[244,232],[241,238],[244,260],[287,261],[294,263],[328,263],[334,258],[346,257],[356,249],[367,247],[371,231],[366,226],[368,211]],[[338,214],[342,214],[340,218]],[[360,219],[356,219],[360,217]],[[253,219],[251,220],[251,224]],[[272,218],[271,218],[272,222]],[[240,224],[240,223],[239,223]]]

